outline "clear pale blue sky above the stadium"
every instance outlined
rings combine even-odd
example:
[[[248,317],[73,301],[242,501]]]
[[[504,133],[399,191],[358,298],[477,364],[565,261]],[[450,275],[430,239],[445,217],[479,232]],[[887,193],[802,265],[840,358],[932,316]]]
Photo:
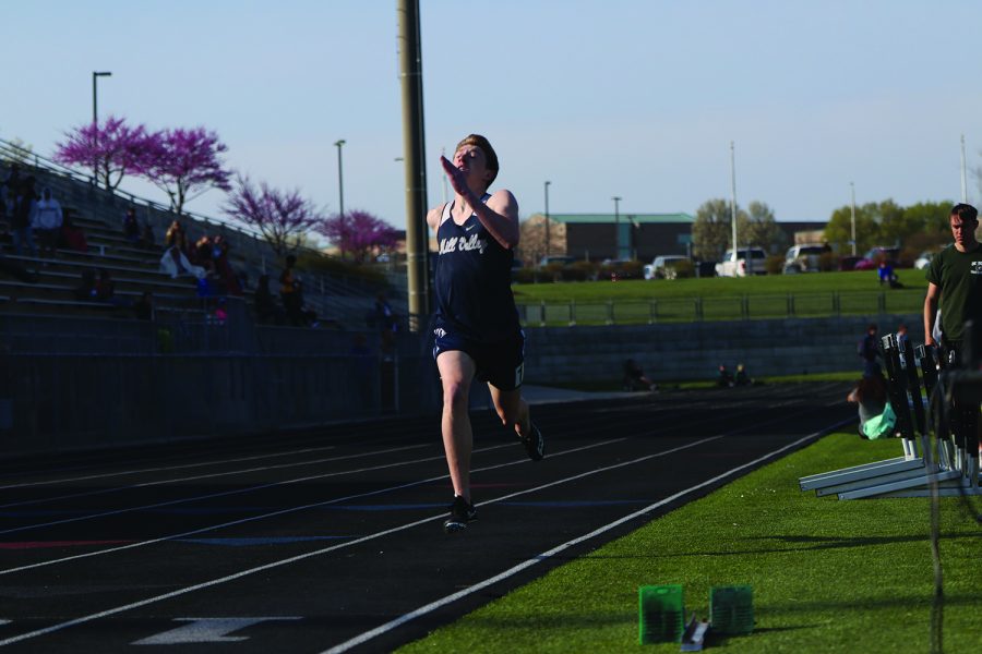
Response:
[[[779,220],[849,202],[959,199],[982,148],[982,2],[422,0],[429,204],[441,148],[487,135],[523,217],[687,211]],[[99,113],[205,125],[227,164],[405,227],[395,0],[4,2],[0,137],[49,155]],[[152,186],[123,187],[161,199]],[[969,173],[968,195],[979,184]],[[189,205],[220,216],[223,194]]]

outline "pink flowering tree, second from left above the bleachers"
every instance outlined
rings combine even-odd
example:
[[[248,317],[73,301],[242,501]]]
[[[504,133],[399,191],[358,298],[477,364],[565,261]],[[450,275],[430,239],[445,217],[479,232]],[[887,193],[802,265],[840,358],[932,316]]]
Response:
[[[204,128],[163,130],[151,136],[141,173],[170,198],[178,216],[184,204],[211,189],[229,191],[231,172],[219,158],[228,147]]]

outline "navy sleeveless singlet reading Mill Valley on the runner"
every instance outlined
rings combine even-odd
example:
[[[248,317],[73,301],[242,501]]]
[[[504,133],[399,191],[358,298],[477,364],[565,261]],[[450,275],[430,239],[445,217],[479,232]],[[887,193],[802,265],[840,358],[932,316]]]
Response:
[[[481,202],[487,203],[489,194]],[[477,215],[464,225],[443,207],[436,241],[436,326],[480,342],[493,343],[520,329],[512,295],[511,250],[494,240]]]

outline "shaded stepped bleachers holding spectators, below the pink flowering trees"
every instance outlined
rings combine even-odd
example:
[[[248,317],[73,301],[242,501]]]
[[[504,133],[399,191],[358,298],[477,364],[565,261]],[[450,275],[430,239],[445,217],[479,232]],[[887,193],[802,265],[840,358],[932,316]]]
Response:
[[[2,144],[0,144],[2,149]],[[193,310],[201,308],[193,279],[171,279],[159,271],[164,235],[173,220],[173,215],[165,207],[131,195],[110,193],[93,186],[82,175],[59,169],[47,162],[22,166],[22,174],[37,178],[37,190],[50,187],[52,195],[62,207],[71,209],[74,225],[82,228],[88,244],[87,252],[59,250],[55,258],[21,256],[12,254],[12,239],[0,229],[0,252],[12,264],[36,275],[36,283],[0,276],[0,311],[15,313],[57,312],[65,315],[132,315],[118,307],[100,306],[100,303],[79,302],[73,290],[79,284],[85,269],[109,271],[115,282],[116,294],[123,301],[136,300],[144,291],[154,295],[155,308]],[[5,178],[8,168],[0,162],[0,179]],[[141,223],[149,225],[157,243],[156,247],[142,249],[123,235],[122,217],[127,207],[135,207]],[[203,234],[221,234],[229,243],[229,262],[246,280],[244,295],[251,303],[252,293],[260,275],[268,274],[271,290],[278,290],[277,278],[280,264],[272,249],[259,238],[225,223],[200,217],[185,216],[182,223],[191,242]],[[323,325],[359,329],[364,327],[364,315],[373,306],[375,295],[383,286],[366,282],[357,277],[340,275],[313,275],[298,269],[298,277],[304,283],[304,299]],[[397,289],[390,292],[390,301],[397,311],[405,311],[405,295]]]

